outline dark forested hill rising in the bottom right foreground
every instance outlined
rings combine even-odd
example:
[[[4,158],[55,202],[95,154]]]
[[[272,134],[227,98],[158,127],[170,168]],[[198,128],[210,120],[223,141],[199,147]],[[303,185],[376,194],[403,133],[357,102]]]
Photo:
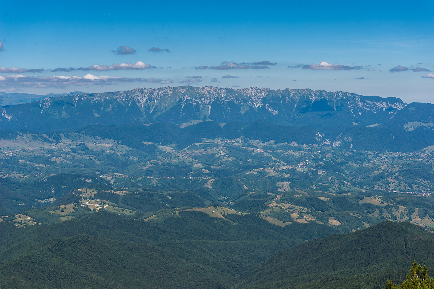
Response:
[[[404,280],[414,260],[432,269],[433,257],[432,234],[409,223],[385,221],[283,250],[241,274],[239,288],[344,289],[355,283],[356,288],[379,289],[387,279]]]

